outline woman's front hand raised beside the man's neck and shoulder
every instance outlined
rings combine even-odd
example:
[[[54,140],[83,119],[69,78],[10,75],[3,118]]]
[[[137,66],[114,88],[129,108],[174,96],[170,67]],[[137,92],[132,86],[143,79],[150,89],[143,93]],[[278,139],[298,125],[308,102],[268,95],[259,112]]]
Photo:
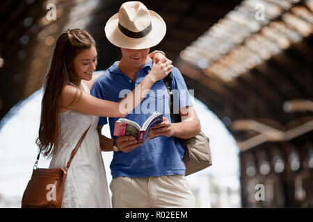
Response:
[[[172,61],[168,62],[168,60],[161,60],[159,62],[156,62],[156,60],[153,60],[152,69],[147,76],[149,76],[151,80],[155,83],[166,77],[171,71]]]

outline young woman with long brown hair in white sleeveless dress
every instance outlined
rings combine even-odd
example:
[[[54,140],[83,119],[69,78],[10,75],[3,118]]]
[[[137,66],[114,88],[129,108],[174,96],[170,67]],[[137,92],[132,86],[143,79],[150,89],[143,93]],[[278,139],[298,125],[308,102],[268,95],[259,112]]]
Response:
[[[99,116],[125,117],[140,104],[147,89],[172,69],[172,61],[157,53],[161,60],[154,62],[150,73],[137,86],[141,87],[141,99],[135,99],[136,89],[119,103],[97,99],[90,95],[97,78],[93,75],[97,66],[95,47],[95,40],[83,29],[62,33],[56,41],[51,67],[45,78],[36,143],[43,155],[52,157],[50,168],[66,166],[74,146],[90,126],[68,169],[62,207],[111,206],[97,133]],[[132,106],[120,109],[122,101]]]

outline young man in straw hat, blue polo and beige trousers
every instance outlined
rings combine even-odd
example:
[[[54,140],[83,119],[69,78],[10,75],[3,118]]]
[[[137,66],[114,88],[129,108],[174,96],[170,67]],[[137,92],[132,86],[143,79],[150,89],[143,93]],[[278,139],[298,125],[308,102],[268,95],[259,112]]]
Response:
[[[163,39],[166,24],[156,12],[147,10],[143,3],[130,1],[123,3],[119,12],[109,19],[105,33],[112,44],[121,48],[122,59],[96,80],[91,93],[101,99],[120,101],[123,90],[134,89],[149,73],[154,61],[147,55],[150,47]],[[172,77],[172,89],[186,92],[184,78],[175,67]],[[163,93],[160,95],[160,92]],[[159,137],[143,144],[137,143],[132,136],[113,136],[118,118],[109,118],[114,139],[104,137],[101,130],[107,120],[100,117],[98,130],[102,150],[115,151],[110,185],[113,207],[195,207],[195,198],[184,177],[184,146],[178,138],[188,139],[198,135],[200,121],[187,94],[179,96],[175,103],[182,121],[171,123],[168,99],[166,85],[159,80],[140,107],[125,117],[142,126],[154,111],[163,112],[163,122],[152,130],[153,135]],[[176,142],[174,137],[177,137]]]

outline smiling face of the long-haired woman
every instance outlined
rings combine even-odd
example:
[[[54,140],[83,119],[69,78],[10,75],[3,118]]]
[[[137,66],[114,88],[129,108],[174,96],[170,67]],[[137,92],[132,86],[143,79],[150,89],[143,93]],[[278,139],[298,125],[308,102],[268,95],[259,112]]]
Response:
[[[97,67],[97,50],[95,46],[85,49],[79,53],[73,61],[74,73],[80,80],[91,80],[93,71]]]

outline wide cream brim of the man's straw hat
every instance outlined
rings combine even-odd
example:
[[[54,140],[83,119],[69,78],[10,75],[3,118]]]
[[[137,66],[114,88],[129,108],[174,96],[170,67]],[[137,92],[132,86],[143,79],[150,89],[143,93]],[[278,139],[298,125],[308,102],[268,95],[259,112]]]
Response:
[[[124,35],[118,28],[118,13],[106,22],[106,26],[104,27],[106,37],[112,44],[123,49],[147,49],[159,44],[166,35],[166,24],[156,12],[152,10],[149,10],[149,12],[152,30],[145,37],[135,39]]]

